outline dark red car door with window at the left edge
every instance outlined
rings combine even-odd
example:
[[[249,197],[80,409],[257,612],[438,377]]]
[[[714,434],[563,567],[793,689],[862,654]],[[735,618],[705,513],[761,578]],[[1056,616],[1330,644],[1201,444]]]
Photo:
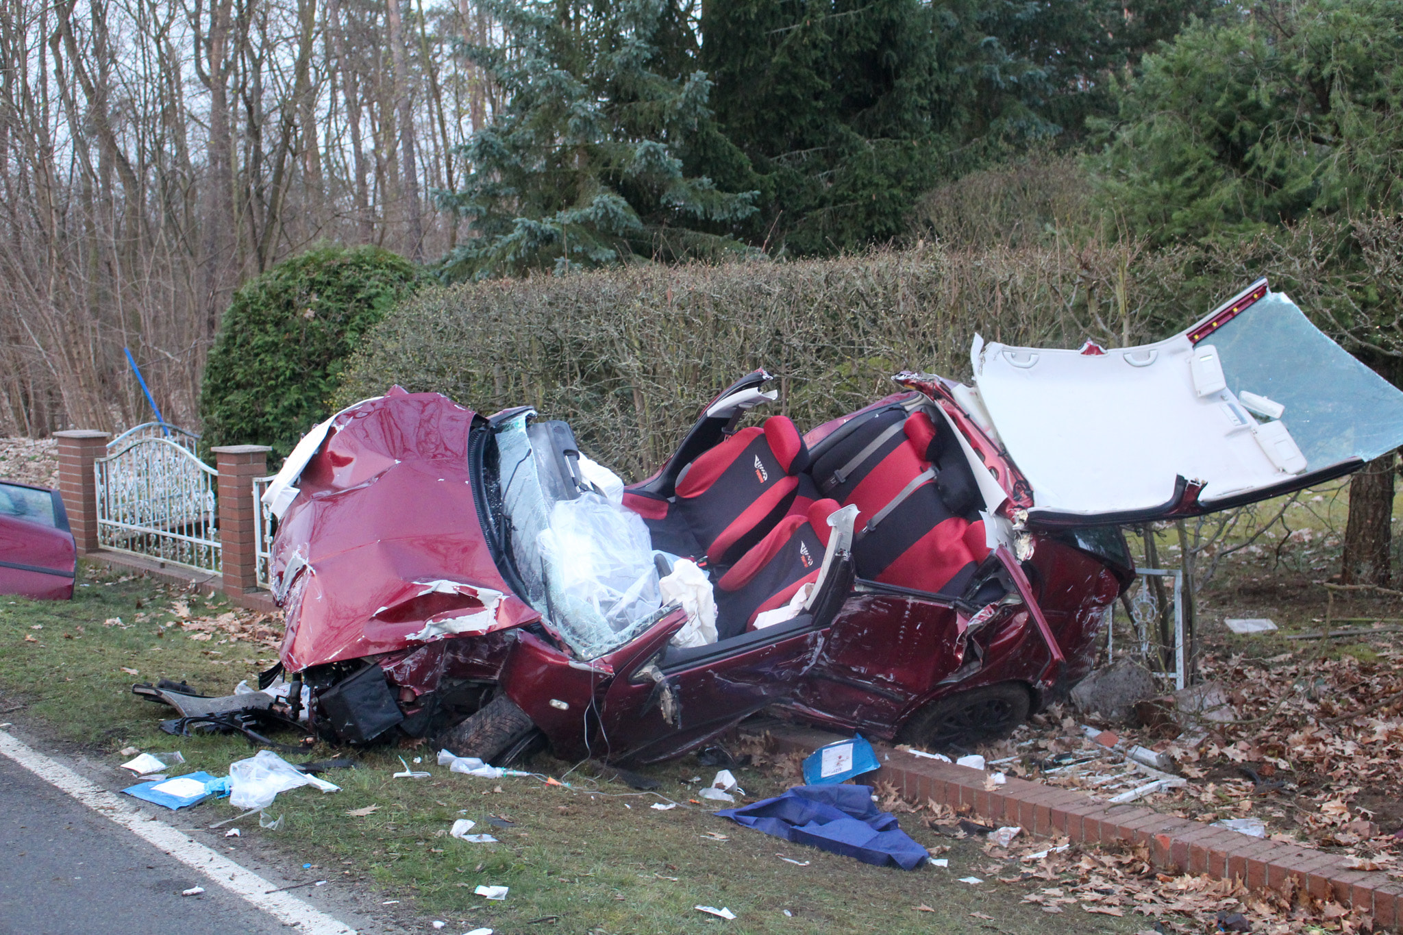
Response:
[[[59,492],[0,481],[0,594],[69,600],[76,571],[77,545]]]

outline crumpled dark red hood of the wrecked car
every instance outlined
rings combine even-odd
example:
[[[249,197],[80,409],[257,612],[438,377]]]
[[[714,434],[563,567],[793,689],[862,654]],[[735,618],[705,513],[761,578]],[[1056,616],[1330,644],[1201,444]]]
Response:
[[[272,548],[289,671],[540,618],[477,520],[474,414],[396,387],[331,419]]]

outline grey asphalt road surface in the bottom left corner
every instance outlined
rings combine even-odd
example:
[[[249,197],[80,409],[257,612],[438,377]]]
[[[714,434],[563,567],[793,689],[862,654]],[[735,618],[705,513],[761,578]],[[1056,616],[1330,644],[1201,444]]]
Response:
[[[199,896],[181,890],[203,886]],[[288,928],[0,757],[0,932],[265,935]]]

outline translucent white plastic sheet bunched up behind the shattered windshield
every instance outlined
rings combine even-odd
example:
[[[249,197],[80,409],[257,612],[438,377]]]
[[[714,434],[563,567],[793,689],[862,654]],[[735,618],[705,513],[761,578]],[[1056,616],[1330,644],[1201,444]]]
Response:
[[[609,645],[662,607],[648,527],[602,495],[556,502],[539,545],[550,618],[575,642]]]

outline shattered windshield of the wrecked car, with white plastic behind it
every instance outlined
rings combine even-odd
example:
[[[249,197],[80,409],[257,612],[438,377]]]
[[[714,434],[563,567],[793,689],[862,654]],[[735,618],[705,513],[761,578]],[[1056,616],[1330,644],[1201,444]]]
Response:
[[[556,499],[542,484],[523,412],[497,432],[506,550],[522,594],[579,656],[641,634],[662,600],[643,520],[599,493]]]

